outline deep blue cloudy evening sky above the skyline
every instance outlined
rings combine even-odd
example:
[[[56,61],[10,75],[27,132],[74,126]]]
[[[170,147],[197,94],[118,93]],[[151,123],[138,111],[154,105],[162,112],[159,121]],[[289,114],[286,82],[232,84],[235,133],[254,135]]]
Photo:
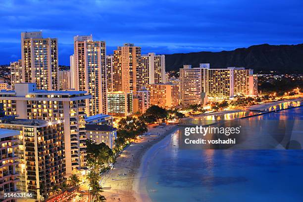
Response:
[[[0,64],[21,58],[21,32],[58,39],[69,65],[73,36],[93,35],[107,54],[134,43],[142,53],[222,51],[302,44],[303,0],[0,0]]]

